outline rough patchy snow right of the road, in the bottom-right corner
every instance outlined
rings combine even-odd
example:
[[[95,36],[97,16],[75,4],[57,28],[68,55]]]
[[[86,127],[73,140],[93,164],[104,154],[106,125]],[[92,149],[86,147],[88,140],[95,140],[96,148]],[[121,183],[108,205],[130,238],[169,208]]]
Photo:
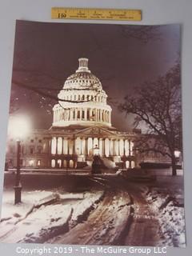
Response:
[[[175,198],[154,189],[146,199],[150,202],[150,207],[159,220],[162,238],[159,246],[185,247],[185,213],[181,203],[182,190],[181,194],[177,194]]]

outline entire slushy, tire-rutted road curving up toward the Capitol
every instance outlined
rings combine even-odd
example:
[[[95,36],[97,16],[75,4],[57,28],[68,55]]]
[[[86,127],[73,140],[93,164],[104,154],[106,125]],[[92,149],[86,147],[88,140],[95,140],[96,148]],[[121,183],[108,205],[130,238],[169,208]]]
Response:
[[[48,242],[155,246],[159,241],[159,223],[143,197],[145,186],[135,186],[122,178],[118,182],[109,177],[94,181],[106,187],[105,198],[97,209],[85,222]]]

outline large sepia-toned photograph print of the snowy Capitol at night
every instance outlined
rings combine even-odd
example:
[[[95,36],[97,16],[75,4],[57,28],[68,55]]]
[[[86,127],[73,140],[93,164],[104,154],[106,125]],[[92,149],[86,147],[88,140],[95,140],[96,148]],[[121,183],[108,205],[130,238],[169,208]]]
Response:
[[[0,242],[186,246],[180,30],[16,22]]]

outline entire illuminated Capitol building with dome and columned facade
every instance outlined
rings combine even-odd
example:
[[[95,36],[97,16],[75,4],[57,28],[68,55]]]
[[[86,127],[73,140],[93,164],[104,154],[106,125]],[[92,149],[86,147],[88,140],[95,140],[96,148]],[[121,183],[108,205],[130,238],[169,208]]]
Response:
[[[121,132],[112,126],[112,109],[102,83],[90,72],[87,58],[78,61],[78,70],[66,79],[58,94],[50,129],[33,130],[22,141],[21,165],[82,169],[89,168],[94,154],[99,154],[109,168],[138,166],[142,156],[134,150],[134,141],[141,132]],[[17,166],[16,150],[10,138],[6,154],[9,166]],[[148,161],[154,158],[148,155]]]

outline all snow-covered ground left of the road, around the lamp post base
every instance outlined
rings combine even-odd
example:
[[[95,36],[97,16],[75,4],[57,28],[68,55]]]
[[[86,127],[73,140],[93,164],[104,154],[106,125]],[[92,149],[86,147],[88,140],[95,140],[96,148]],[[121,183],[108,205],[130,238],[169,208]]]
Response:
[[[57,202],[38,207],[43,198],[50,198],[55,193],[56,191],[26,192],[23,194],[23,202],[16,206],[13,203],[13,193],[4,193],[0,241],[46,242],[55,235],[68,231],[69,225],[74,226],[103,196],[103,191],[70,194],[58,190]]]

